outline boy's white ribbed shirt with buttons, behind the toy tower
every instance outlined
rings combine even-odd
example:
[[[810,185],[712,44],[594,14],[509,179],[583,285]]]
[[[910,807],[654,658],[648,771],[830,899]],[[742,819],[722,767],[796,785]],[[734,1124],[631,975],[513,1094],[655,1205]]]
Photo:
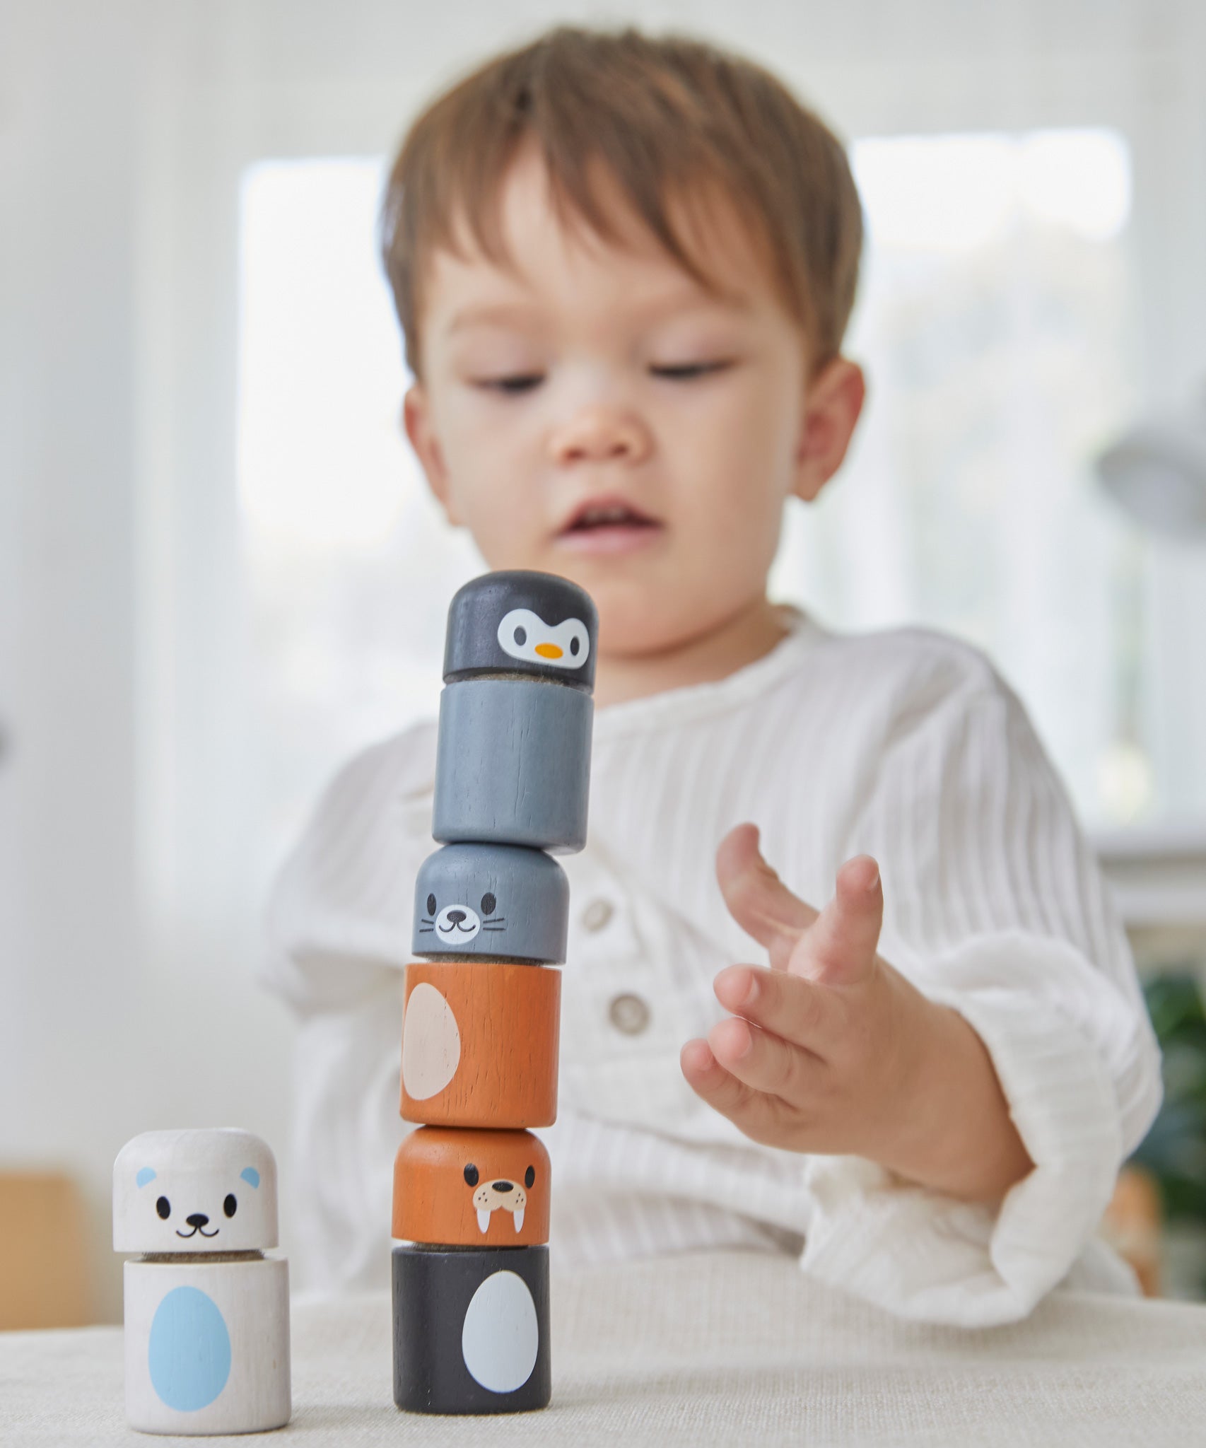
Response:
[[[1022,707],[944,636],[785,620],[780,644],[717,683],[595,714],[589,838],[560,857],[560,1106],[541,1132],[553,1251],[792,1251],[892,1312],[967,1325],[1025,1315],[1070,1273],[1126,1290],[1095,1231],[1158,1106],[1158,1050]],[[301,1018],[294,1255],[316,1286],[387,1281],[402,966],[416,873],[436,849],[434,760],[434,723],[353,759],[274,892],[265,976]],[[715,973],[766,963],[712,869],[743,820],[818,908],[844,860],[879,860],[880,954],[980,1034],[1035,1163],[998,1208],[857,1157],[757,1145],[683,1080],[682,1043],[724,1015]]]

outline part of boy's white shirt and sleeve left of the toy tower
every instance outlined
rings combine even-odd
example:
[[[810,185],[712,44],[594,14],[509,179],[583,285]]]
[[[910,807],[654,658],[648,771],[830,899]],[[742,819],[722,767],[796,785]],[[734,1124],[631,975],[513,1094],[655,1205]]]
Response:
[[[414,879],[433,841],[434,737],[358,754],[323,794],[269,906],[263,983],[300,1016],[294,1261],[316,1289],[388,1286],[402,970]]]

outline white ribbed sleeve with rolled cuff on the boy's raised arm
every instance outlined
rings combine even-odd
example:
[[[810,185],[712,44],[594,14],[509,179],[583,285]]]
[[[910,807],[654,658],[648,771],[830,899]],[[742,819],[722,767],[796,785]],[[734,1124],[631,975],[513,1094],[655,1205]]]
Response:
[[[980,1035],[1034,1170],[987,1206],[812,1158],[802,1266],[902,1316],[1013,1321],[1092,1255],[1160,1105],[1129,946],[1058,778],[986,665],[899,711],[851,830],[860,851],[882,866],[882,954]]]

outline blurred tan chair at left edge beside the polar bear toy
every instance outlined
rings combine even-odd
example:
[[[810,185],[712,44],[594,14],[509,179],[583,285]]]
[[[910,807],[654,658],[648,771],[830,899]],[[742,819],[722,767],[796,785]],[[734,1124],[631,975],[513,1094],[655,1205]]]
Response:
[[[0,1171],[0,1331],[91,1321],[84,1203],[51,1171]]]

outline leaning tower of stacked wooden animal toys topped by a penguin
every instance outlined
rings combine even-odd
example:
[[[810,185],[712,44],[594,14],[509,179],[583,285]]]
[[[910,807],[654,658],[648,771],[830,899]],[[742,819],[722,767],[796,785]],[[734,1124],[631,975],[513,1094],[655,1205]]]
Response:
[[[431,833],[418,872],[394,1166],[394,1400],[543,1407],[549,1156],[569,882],[586,841],[596,614],[550,573],[452,601]]]

